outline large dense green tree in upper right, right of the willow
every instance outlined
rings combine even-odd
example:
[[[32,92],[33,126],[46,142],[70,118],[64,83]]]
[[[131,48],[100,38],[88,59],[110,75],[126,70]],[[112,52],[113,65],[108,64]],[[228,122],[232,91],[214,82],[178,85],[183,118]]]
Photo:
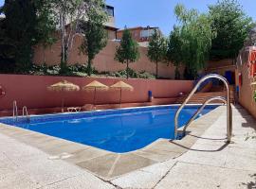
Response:
[[[211,59],[235,59],[252,28],[249,18],[236,0],[220,0],[209,7],[212,29],[217,33],[212,40]]]

